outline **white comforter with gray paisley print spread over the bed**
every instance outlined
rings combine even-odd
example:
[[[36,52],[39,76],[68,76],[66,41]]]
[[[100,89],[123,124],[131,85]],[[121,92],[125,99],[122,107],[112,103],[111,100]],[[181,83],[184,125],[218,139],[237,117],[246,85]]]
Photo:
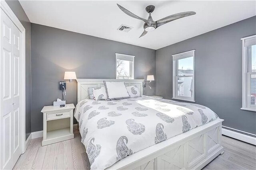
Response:
[[[113,101],[82,100],[75,109],[91,169],[218,118],[211,109],[148,96]]]

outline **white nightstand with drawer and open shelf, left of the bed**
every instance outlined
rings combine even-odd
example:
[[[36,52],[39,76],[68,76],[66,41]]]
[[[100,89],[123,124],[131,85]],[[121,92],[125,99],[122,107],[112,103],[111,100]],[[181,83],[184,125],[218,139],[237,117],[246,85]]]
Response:
[[[74,108],[74,104],[66,104],[65,107],[44,106],[41,110],[44,114],[42,146],[74,138]]]

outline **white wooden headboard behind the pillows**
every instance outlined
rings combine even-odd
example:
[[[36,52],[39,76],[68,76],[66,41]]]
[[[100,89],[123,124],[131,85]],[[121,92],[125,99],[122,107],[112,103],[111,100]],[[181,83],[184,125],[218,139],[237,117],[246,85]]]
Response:
[[[104,86],[103,80],[109,82],[124,82],[125,86],[137,86],[140,95],[143,94],[143,79],[136,80],[120,80],[120,79],[76,79],[77,81],[77,102],[89,99],[88,88]]]

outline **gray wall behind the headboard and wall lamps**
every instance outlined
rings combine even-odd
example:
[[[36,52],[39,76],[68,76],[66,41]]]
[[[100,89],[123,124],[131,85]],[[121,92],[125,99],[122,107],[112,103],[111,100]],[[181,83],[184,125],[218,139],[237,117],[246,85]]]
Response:
[[[32,47],[32,132],[43,129],[44,106],[61,98],[59,81],[65,71],[75,71],[77,78],[115,78],[115,53],[135,55],[134,78],[155,74],[156,51],[89,35],[31,24]],[[67,83],[66,103],[77,103],[77,83]],[[155,81],[146,95],[155,94]],[[75,123],[75,121],[74,121]]]

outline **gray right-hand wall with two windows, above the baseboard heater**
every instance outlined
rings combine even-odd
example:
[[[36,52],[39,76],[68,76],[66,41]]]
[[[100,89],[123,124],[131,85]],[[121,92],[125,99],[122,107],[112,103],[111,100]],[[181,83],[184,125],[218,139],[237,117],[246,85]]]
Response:
[[[242,107],[242,37],[256,34],[256,17],[156,50],[156,95],[172,97],[171,55],[196,50],[195,99],[224,126],[256,134],[256,113]]]

